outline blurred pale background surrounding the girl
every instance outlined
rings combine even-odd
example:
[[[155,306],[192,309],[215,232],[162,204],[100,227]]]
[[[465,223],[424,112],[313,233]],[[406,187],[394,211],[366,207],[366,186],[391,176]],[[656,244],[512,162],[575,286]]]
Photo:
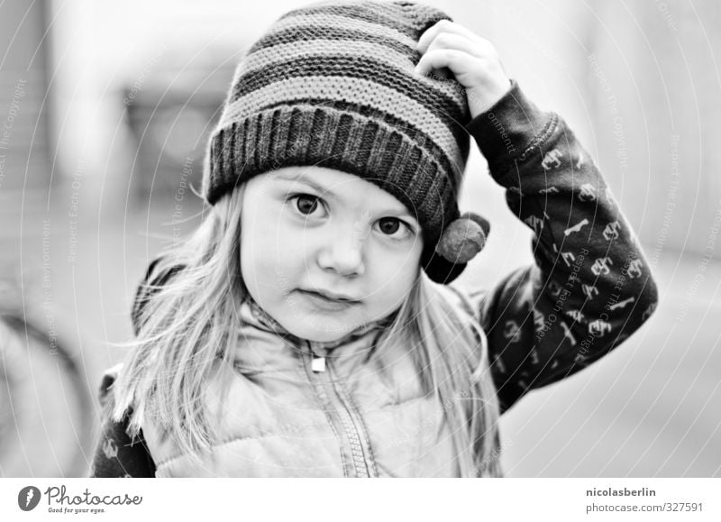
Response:
[[[0,4],[0,476],[83,476],[135,286],[199,222],[207,135],[272,3]],[[602,362],[502,418],[515,477],[721,475],[721,5],[426,0],[492,41],[597,160],[661,304]],[[533,261],[477,151],[462,205],[493,224],[462,278]]]

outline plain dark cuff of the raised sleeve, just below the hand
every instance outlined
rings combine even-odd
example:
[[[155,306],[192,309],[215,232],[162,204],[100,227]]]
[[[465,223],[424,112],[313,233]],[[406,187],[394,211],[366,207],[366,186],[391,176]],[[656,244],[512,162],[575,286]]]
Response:
[[[488,111],[473,118],[466,130],[478,143],[491,174],[496,177],[540,144],[552,123],[552,113],[540,110],[525,97],[516,80],[511,80],[508,92]]]

